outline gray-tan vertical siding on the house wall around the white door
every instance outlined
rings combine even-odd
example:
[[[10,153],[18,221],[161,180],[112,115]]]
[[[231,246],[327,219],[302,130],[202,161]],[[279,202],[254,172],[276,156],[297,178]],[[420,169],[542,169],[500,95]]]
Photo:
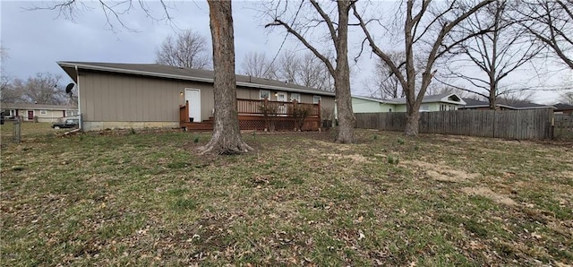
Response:
[[[201,90],[201,119],[212,116],[212,84],[118,73],[81,70],[80,108],[84,122],[179,122],[185,88]],[[259,89],[237,88],[237,98],[259,99]],[[271,99],[276,99],[270,90]],[[283,91],[283,90],[281,90]],[[301,93],[304,103],[312,94]],[[288,93],[290,98],[290,93]],[[323,107],[334,107],[334,98],[322,96]]]

